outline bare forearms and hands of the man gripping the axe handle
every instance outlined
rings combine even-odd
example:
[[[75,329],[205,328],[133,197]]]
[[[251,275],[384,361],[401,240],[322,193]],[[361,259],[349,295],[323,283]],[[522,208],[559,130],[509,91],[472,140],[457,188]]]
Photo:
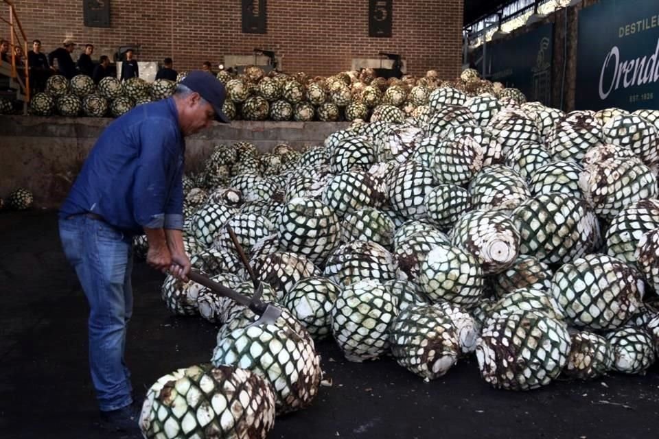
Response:
[[[149,243],[146,262],[160,272],[187,281],[191,265],[185,254],[181,230],[144,228],[144,232]]]

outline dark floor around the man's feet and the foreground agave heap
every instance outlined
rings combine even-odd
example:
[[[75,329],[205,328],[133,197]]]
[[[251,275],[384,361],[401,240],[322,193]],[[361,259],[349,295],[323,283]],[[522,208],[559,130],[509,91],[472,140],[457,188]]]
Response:
[[[51,211],[0,214],[0,438],[112,438],[95,425],[87,369],[86,302]],[[137,263],[128,364],[146,390],[161,375],[208,361],[216,329],[174,318],[162,275]],[[542,390],[492,390],[475,359],[424,383],[391,359],[343,360],[319,344],[333,380],[308,410],[278,418],[269,438],[657,438],[659,367],[645,377],[559,381]]]

